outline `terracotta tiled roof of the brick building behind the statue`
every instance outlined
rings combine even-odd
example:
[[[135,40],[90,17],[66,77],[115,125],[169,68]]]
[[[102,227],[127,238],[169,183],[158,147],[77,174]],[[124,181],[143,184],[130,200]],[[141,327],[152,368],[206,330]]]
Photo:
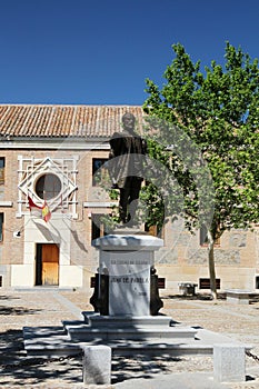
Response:
[[[107,138],[121,129],[126,112],[141,128],[140,106],[0,104],[0,137]]]

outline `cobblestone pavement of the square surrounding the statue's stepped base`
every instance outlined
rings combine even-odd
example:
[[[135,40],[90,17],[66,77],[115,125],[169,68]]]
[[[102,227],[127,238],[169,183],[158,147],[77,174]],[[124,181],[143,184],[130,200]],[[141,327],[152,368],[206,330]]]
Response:
[[[0,289],[0,388],[86,388],[80,357],[43,362],[34,358],[28,362],[22,328],[60,326],[61,320],[77,320],[82,310],[92,310],[89,297],[82,290]],[[165,295],[162,300],[161,312],[175,321],[200,326],[252,345],[252,353],[259,356],[258,301],[248,306],[233,305],[223,299],[211,301],[205,295],[193,298]],[[112,360],[112,385],[101,388],[116,388],[126,380],[132,380],[133,385],[133,379],[151,379],[161,373],[211,372],[212,369],[212,358],[206,356],[152,358],[151,361],[138,356],[133,359],[117,357]],[[246,357],[246,382],[228,383],[227,388],[259,389],[259,362]]]

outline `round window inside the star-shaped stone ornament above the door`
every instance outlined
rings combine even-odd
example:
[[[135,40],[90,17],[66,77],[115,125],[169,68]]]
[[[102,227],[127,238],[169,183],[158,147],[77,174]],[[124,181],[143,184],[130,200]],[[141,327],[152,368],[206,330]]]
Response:
[[[53,173],[40,176],[36,182],[36,193],[42,200],[51,200],[59,196],[61,191],[61,181]]]

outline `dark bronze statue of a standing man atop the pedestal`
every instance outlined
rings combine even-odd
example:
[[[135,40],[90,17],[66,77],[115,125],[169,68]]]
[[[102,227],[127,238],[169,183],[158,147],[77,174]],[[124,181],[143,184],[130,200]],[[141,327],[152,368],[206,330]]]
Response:
[[[122,117],[122,132],[114,132],[110,139],[110,176],[113,188],[119,188],[120,221],[132,226],[143,180],[143,154],[146,141],[135,132],[136,118],[132,113]]]

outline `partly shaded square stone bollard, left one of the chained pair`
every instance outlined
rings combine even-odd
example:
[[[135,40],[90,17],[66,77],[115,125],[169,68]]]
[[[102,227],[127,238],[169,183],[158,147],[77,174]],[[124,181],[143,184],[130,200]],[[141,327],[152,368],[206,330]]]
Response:
[[[111,383],[111,348],[108,346],[82,346],[83,383]]]

